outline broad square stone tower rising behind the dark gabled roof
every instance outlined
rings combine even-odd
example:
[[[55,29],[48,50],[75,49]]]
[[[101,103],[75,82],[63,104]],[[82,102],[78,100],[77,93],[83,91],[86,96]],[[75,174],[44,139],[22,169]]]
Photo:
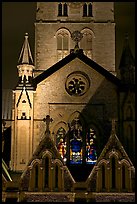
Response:
[[[113,2],[38,2],[35,75],[70,53],[75,46],[71,34],[76,30],[83,34],[80,48],[84,54],[116,74]]]

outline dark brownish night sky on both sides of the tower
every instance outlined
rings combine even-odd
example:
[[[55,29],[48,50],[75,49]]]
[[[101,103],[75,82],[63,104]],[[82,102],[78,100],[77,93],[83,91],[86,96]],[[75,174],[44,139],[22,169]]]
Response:
[[[26,32],[34,59],[35,11],[36,2],[2,2],[2,88],[12,89],[17,84],[17,62]],[[135,56],[135,2],[115,2],[115,22],[117,68],[125,32]]]

